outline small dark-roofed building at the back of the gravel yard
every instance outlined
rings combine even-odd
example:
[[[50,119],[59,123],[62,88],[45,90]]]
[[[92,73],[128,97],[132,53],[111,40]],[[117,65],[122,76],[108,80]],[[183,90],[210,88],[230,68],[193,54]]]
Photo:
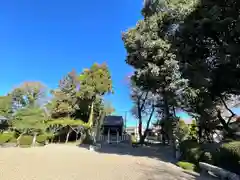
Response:
[[[128,139],[129,136],[124,134],[124,120],[122,116],[106,116],[104,118],[98,141],[119,143]]]

